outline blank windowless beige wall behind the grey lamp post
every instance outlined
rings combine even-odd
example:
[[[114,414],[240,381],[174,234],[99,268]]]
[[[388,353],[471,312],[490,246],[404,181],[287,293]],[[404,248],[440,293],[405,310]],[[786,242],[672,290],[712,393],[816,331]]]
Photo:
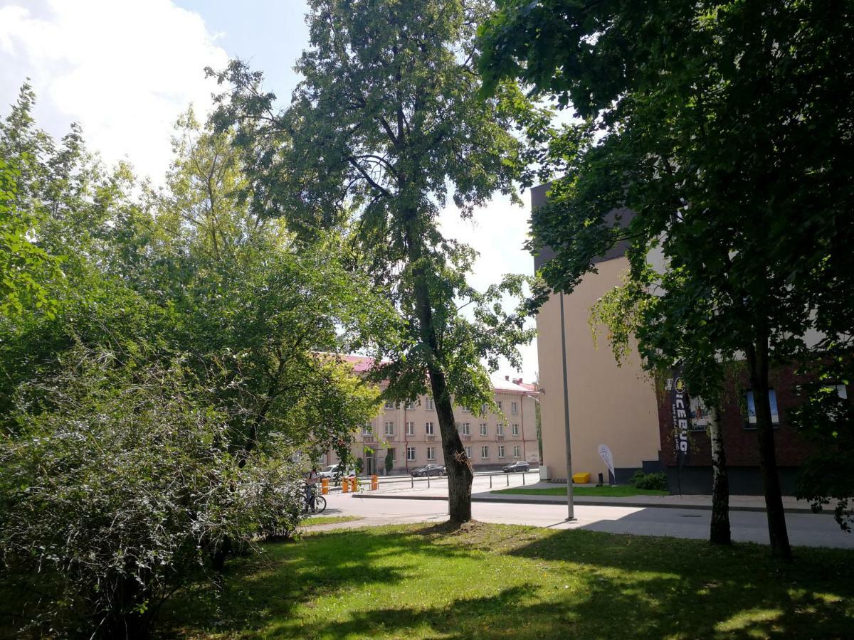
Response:
[[[658,460],[658,409],[652,381],[640,369],[633,352],[617,367],[606,334],[594,347],[588,317],[590,306],[620,283],[629,266],[624,257],[601,262],[599,273],[588,274],[570,295],[564,295],[566,373],[570,399],[572,470],[588,471],[592,478],[608,471],[599,445],[608,445],[614,466],[640,467],[642,460]],[[560,362],[559,296],[553,295],[537,317],[540,360],[543,463],[550,477],[566,477],[564,446],[563,371]]]

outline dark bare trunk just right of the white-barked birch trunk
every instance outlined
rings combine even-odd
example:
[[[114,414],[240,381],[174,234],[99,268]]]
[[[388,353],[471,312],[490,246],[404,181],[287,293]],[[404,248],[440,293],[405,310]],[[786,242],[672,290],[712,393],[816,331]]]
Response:
[[[768,516],[771,553],[785,560],[791,560],[792,547],[789,546],[780,476],[777,474],[774,427],[771,423],[771,403],[768,397],[768,340],[767,329],[758,327],[755,343],[747,346],[747,363],[750,365],[753,404],[756,407],[759,470],[762,473],[765,491],[765,512]]]

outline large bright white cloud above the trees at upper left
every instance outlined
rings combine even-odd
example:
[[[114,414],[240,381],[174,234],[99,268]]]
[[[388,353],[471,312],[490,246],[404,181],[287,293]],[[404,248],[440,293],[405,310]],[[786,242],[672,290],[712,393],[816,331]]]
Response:
[[[205,113],[216,90],[204,67],[227,59],[201,16],[169,0],[13,0],[0,6],[0,113],[29,76],[39,125],[58,137],[78,121],[109,163],[127,156],[158,180],[178,113]]]

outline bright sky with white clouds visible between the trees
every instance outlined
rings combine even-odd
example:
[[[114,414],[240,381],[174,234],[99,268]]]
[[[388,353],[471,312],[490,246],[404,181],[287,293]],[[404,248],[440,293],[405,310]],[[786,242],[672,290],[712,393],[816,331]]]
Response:
[[[55,137],[72,122],[87,146],[112,165],[131,160],[159,182],[171,161],[170,136],[190,104],[208,113],[218,90],[204,68],[230,58],[263,71],[280,105],[299,81],[294,62],[308,44],[302,0],[0,0],[0,117],[29,78],[38,125]],[[522,245],[525,207],[497,197],[464,221],[442,212],[446,236],[479,253],[471,284],[482,289],[505,273],[533,273]],[[521,375],[533,381],[536,343],[522,348]],[[509,366],[498,375],[516,377]]]

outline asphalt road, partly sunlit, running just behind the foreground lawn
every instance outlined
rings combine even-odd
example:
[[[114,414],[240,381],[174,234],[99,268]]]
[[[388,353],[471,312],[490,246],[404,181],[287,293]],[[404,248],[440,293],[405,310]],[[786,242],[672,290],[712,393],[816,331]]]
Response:
[[[360,515],[348,526],[443,521],[445,500],[406,500],[357,495],[327,496],[324,515]],[[577,505],[574,522],[565,521],[566,507],[559,504],[472,503],[475,520],[504,524],[533,525],[556,529],[580,528],[610,533],[708,538],[710,511],[699,509],[655,509],[649,507],[600,507]],[[768,544],[768,528],[762,512],[734,511],[729,515],[733,539]],[[787,514],[789,540],[797,546],[854,549],[854,534],[845,533],[830,515]]]

